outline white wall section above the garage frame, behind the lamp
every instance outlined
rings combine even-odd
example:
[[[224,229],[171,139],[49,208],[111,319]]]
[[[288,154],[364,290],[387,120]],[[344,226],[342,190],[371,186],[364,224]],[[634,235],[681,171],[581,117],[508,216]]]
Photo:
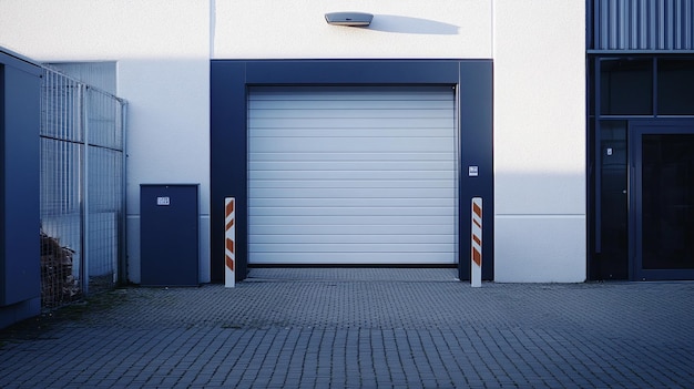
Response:
[[[213,1],[217,59],[490,58],[491,2],[441,0]],[[368,29],[325,13],[374,14]]]

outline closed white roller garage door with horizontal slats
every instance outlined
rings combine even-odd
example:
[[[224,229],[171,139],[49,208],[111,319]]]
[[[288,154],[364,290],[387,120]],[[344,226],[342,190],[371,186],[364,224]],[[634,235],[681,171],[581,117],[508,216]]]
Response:
[[[455,91],[252,88],[249,264],[457,263]]]

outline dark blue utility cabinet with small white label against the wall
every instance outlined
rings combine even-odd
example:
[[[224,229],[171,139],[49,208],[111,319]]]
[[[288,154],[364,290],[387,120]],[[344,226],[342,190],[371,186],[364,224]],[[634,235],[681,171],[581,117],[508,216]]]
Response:
[[[200,285],[198,186],[140,186],[141,285]]]

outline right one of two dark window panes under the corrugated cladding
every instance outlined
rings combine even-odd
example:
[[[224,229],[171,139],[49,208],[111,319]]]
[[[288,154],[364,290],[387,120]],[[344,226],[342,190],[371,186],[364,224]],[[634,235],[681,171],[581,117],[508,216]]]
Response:
[[[694,114],[694,60],[659,60],[657,113]]]

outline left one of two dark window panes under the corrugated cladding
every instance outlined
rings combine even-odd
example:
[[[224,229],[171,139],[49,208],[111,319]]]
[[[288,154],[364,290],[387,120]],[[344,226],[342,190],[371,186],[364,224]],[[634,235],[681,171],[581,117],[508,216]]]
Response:
[[[601,114],[653,114],[653,60],[603,60],[600,81]]]

